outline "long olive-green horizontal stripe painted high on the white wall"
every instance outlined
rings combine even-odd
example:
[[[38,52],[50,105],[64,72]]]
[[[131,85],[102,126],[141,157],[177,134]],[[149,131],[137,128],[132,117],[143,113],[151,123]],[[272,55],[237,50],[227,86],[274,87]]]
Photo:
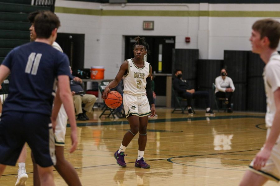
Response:
[[[154,11],[154,10],[96,10],[55,7],[55,13],[102,16],[168,16],[168,17],[280,17],[280,11]]]

